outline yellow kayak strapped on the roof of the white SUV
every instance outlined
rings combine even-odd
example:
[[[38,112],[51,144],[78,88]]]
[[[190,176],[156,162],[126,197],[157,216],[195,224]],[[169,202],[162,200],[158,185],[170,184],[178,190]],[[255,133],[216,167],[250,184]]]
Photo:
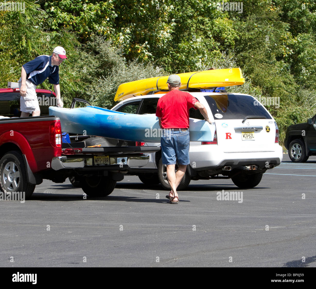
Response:
[[[181,78],[180,89],[208,89],[245,83],[240,68],[204,70],[180,73],[178,75]],[[152,91],[168,90],[168,77],[169,75],[123,83],[119,86],[114,100],[119,101],[133,96],[146,95]]]

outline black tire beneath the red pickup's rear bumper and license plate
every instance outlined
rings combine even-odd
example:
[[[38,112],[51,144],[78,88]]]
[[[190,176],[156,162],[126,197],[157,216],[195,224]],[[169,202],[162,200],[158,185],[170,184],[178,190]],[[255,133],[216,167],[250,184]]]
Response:
[[[91,176],[80,179],[82,190],[90,197],[108,196],[114,190],[115,185],[116,181],[108,176]]]

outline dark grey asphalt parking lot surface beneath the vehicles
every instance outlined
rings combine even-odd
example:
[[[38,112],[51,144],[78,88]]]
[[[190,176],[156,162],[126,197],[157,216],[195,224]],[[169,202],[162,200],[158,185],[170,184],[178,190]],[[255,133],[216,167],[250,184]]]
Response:
[[[25,203],[0,202],[0,266],[316,267],[316,157],[283,156],[253,189],[191,181],[177,205],[135,176],[87,199],[45,180]],[[242,202],[217,200],[223,190]]]

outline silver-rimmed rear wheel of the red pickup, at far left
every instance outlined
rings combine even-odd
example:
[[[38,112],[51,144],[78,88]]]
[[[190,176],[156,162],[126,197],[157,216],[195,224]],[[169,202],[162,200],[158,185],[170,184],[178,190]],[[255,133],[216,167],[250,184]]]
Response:
[[[24,160],[20,152],[9,151],[1,158],[0,189],[7,194],[25,192],[25,198],[33,194],[35,185],[27,182]]]

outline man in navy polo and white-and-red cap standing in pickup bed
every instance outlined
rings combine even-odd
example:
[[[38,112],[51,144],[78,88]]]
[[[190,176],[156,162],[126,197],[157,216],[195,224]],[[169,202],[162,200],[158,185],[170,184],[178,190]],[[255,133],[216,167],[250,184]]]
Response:
[[[28,117],[30,113],[33,117],[40,115],[40,106],[35,89],[47,77],[48,81],[54,85],[58,106],[64,106],[60,98],[59,65],[65,59],[67,56],[64,48],[57,46],[51,56],[40,55],[22,66],[21,78],[19,79],[21,117]]]

